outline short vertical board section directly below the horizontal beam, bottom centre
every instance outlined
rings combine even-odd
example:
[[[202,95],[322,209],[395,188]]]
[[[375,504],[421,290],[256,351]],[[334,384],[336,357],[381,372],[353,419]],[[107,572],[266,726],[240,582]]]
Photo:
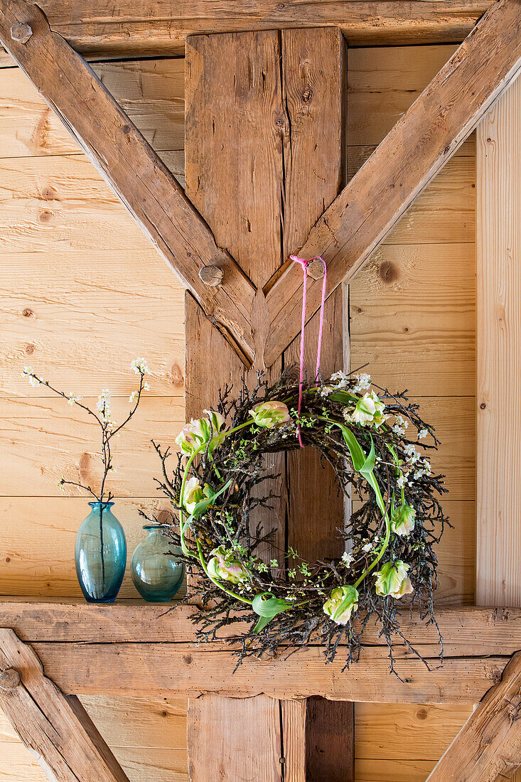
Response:
[[[202,695],[190,698],[188,716],[190,782],[282,782],[281,715],[274,698]]]

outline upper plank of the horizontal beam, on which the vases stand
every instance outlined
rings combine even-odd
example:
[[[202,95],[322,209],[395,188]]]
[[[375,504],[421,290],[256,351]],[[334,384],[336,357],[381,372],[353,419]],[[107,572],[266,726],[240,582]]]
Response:
[[[111,605],[85,604],[73,598],[2,597],[0,626],[15,630],[28,644],[48,642],[182,644],[196,640],[189,617],[193,607],[177,605],[173,611],[142,601],[117,601]],[[519,608],[440,608],[437,612],[440,633],[444,637],[447,658],[486,655],[512,655],[521,647],[521,609]],[[437,631],[426,627],[417,614],[405,611],[401,627],[411,643],[423,648],[428,657],[437,654]],[[233,637],[237,629],[221,630],[221,637]],[[137,637],[136,637],[137,633]],[[370,622],[365,631],[369,646],[386,648],[378,626]],[[208,647],[213,649],[214,647]],[[397,640],[397,653],[401,643]],[[266,663],[268,666],[268,663]],[[269,667],[269,666],[268,666]],[[354,667],[356,671],[356,667]]]

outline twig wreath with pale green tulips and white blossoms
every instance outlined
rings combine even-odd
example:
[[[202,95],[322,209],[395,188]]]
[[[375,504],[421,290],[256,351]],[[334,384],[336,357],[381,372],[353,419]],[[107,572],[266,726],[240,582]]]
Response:
[[[238,396],[222,390],[216,411],[185,426],[173,469],[171,449],[154,443],[159,487],[174,510],[171,538],[199,576],[206,606],[192,617],[199,640],[222,640],[220,631],[235,625],[230,643],[239,662],[314,642],[325,647],[326,662],[341,649],[349,665],[374,617],[394,671],[396,635],[422,658],[401,633],[400,601],[437,627],[433,547],[448,519],[440,505],[444,476],[433,475],[426,455],[438,440],[419,405],[363,373],[306,383],[300,415],[298,397],[291,372],[274,386],[260,375],[255,389],[243,386]],[[275,530],[256,519],[275,499],[270,454],[299,448],[299,432],[304,447],[332,466],[339,492],[355,500],[348,522],[339,519],[340,560],[307,562],[292,548],[274,554]]]

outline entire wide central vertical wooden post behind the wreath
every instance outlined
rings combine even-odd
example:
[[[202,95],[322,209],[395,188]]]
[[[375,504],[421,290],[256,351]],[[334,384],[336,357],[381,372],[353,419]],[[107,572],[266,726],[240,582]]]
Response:
[[[211,335],[199,307],[186,300],[187,417],[199,417],[215,404],[219,387],[242,378],[253,386],[255,371],[264,370],[264,346],[268,333],[262,286],[277,271],[289,247],[304,241],[307,232],[331,203],[345,178],[346,50],[338,30],[276,30],[260,33],[222,34],[189,38],[186,49],[186,187],[187,195],[214,231],[219,245],[235,257],[257,287],[251,325],[255,339],[253,371],[245,375],[230,351]],[[240,139],[240,145],[236,139]],[[314,362],[318,322],[311,325],[306,362]],[[325,314],[323,368],[343,366],[343,298],[332,297]],[[275,362],[268,374],[272,382],[282,367],[296,361],[295,346]],[[312,370],[311,370],[312,371]],[[304,558],[339,556],[343,551],[336,527],[343,504],[334,491],[334,475],[320,465],[313,450],[289,457],[293,476],[286,490],[283,454],[267,458],[271,475],[278,475],[272,490],[279,495],[273,507],[262,510],[253,526],[262,522],[275,529],[277,558],[288,545]],[[316,486],[322,482],[320,497]],[[328,497],[326,501],[323,496]],[[317,509],[313,514],[312,506]],[[304,512],[305,507],[305,512]],[[320,525],[304,526],[321,516]],[[286,519],[287,517],[287,519]],[[268,554],[268,551],[264,552]],[[196,728],[189,733],[192,777],[213,777],[207,753],[225,762],[227,780],[239,778],[239,766],[263,763],[253,777],[268,780],[299,778],[305,763],[304,718],[293,705],[280,706],[282,734],[278,744],[271,730],[272,708],[264,698],[243,705],[219,696],[206,697],[189,710]],[[221,719],[216,723],[215,713]],[[335,705],[328,705],[335,723]],[[206,723],[207,730],[202,726]],[[241,717],[240,714],[243,713]],[[325,713],[325,712],[324,712]],[[266,724],[266,720],[268,723]],[[253,747],[239,752],[233,725],[254,724]],[[207,734],[214,744],[209,749]],[[217,736],[217,733],[219,735]],[[203,738],[203,746],[197,742]],[[264,741],[268,741],[264,744]],[[275,744],[273,744],[275,741]],[[285,747],[283,768],[278,758]],[[344,753],[345,754],[345,753]],[[276,762],[273,758],[276,755]],[[230,766],[229,758],[235,758]],[[238,764],[235,768],[234,764]],[[293,770],[291,770],[293,769]],[[243,778],[242,776],[240,778]]]

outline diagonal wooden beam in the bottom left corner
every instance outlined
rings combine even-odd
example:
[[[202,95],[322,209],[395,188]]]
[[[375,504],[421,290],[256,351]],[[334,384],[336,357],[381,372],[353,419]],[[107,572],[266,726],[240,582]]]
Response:
[[[128,782],[75,696],[43,674],[31,647],[0,630],[0,707],[56,782]]]

